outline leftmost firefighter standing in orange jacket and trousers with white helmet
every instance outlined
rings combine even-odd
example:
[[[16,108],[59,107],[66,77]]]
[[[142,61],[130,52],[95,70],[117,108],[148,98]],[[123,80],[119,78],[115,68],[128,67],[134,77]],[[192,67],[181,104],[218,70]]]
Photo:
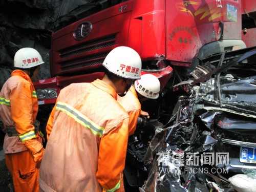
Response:
[[[45,149],[36,123],[37,97],[32,80],[36,78],[41,55],[33,48],[19,49],[16,68],[0,92],[0,117],[6,131],[4,152],[15,191],[39,191],[39,167]]]

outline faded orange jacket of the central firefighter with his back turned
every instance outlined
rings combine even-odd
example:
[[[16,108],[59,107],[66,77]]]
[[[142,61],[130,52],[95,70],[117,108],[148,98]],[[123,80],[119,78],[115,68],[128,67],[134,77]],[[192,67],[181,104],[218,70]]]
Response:
[[[129,115],[102,80],[61,90],[47,124],[44,191],[124,191]]]

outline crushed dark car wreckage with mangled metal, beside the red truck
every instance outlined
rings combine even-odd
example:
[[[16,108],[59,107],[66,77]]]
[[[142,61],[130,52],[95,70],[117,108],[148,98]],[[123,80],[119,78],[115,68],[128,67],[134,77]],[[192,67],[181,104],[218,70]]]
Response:
[[[256,47],[201,60],[191,75],[165,93],[169,103],[177,98],[172,113],[159,109],[129,138],[126,188],[253,191]]]

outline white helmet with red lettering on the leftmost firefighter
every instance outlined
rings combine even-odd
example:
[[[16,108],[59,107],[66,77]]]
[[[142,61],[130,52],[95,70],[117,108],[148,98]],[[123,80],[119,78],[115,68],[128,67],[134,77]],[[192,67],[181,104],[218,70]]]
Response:
[[[28,69],[45,63],[41,55],[33,48],[19,49],[14,56],[14,67]]]

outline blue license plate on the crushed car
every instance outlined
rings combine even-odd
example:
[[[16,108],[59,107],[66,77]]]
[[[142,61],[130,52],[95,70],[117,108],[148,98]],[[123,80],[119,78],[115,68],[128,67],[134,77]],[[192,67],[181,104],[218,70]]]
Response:
[[[240,147],[240,162],[243,163],[256,163],[256,148]]]

